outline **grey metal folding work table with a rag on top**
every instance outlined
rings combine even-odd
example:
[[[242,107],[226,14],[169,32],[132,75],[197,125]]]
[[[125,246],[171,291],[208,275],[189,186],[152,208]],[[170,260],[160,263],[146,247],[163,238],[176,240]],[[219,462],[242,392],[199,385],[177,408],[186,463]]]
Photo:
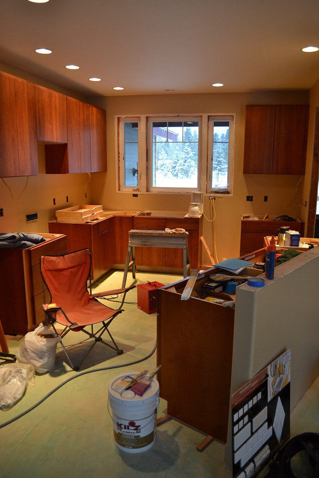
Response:
[[[132,229],[129,231],[129,247],[126,256],[124,277],[122,287],[125,287],[128,270],[132,267],[132,275],[135,279],[135,246],[144,247],[173,247],[183,249],[183,277],[187,277],[189,266],[188,256],[188,233],[165,233],[165,231],[146,231],[142,229]],[[132,252],[132,260],[130,261]]]

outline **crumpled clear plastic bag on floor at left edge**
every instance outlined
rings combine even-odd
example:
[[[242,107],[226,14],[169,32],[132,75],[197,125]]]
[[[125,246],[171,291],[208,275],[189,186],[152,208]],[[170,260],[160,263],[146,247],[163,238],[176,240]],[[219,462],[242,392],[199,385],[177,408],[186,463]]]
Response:
[[[34,368],[25,363],[0,366],[0,409],[11,408],[23,395],[25,387],[34,386]]]

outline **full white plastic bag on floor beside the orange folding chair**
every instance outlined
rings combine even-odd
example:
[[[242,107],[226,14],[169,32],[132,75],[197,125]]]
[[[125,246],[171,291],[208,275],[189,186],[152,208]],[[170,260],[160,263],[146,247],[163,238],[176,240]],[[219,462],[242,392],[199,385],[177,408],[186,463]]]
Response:
[[[52,329],[40,324],[33,332],[28,332],[24,341],[16,351],[20,362],[31,363],[35,371],[45,373],[55,367],[56,346],[58,337],[44,338],[38,334],[52,334]]]

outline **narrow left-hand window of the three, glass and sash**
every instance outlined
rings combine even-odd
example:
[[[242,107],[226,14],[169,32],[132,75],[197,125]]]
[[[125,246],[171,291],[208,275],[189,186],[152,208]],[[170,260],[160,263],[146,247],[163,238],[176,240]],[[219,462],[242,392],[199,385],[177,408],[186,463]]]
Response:
[[[119,123],[120,189],[132,189],[139,186],[139,135],[140,119],[124,118]]]

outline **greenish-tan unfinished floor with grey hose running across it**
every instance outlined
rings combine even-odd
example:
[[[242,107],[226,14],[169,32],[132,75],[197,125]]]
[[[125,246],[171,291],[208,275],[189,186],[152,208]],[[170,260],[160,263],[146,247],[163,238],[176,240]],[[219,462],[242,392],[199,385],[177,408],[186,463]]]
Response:
[[[121,271],[109,274],[103,282],[96,284],[95,292],[121,287],[122,278]],[[180,278],[180,275],[137,273],[137,283],[157,280],[168,284]],[[132,276],[129,274],[127,285],[130,281]],[[103,344],[97,344],[83,362],[81,371],[130,362],[151,352],[156,340],[156,314],[148,315],[139,310],[136,300],[134,289],[126,297],[126,301],[132,304],[125,304],[125,312],[110,326],[124,354],[117,356]],[[113,307],[118,305],[115,303]],[[83,354],[90,345],[90,339],[86,340],[81,332],[70,333],[65,342],[73,358]],[[14,353],[19,342],[10,340],[8,346]],[[108,383],[120,373],[145,368],[153,370],[155,367],[156,354],[135,366],[78,377],[26,416],[0,429],[0,477],[230,478],[231,472],[223,463],[224,446],[212,442],[203,452],[196,451],[195,446],[204,436],[174,420],[159,427],[156,444],[151,450],[136,455],[118,451],[107,411]],[[0,423],[33,405],[75,374],[58,347],[56,368],[45,375],[36,375],[35,387],[28,388],[11,410],[0,411]],[[292,412],[292,435],[304,431],[319,432],[318,411],[319,378]],[[159,416],[165,412],[166,402],[161,399]]]

